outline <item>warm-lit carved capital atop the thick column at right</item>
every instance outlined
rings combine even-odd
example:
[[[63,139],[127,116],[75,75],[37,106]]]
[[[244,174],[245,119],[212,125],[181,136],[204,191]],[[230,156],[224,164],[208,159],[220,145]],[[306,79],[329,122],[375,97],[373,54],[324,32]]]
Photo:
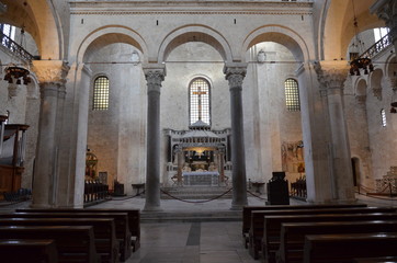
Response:
[[[314,68],[322,89],[343,89],[349,73],[347,61],[321,61],[316,62]]]

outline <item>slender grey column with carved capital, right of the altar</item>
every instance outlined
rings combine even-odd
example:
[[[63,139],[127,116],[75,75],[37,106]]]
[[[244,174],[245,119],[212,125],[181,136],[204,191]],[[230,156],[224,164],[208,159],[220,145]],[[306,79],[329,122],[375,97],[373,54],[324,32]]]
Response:
[[[243,141],[242,80],[247,64],[226,64],[224,73],[229,82],[231,115],[231,163],[232,202],[231,209],[247,205],[246,152]]]

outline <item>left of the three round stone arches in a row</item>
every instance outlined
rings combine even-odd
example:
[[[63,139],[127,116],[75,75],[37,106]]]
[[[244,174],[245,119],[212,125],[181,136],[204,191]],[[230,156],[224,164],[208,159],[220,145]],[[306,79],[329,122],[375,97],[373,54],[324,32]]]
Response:
[[[148,49],[144,38],[135,31],[120,25],[100,27],[88,34],[77,49],[77,61],[83,62],[94,50],[115,43],[136,47],[144,54],[143,61],[147,62],[148,59],[145,55],[148,54]]]

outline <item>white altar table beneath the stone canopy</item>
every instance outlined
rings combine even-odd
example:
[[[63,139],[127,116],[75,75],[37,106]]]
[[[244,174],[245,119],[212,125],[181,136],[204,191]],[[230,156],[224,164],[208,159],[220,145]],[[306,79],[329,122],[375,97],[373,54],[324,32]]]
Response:
[[[186,186],[218,186],[219,173],[216,171],[183,172],[183,185]]]

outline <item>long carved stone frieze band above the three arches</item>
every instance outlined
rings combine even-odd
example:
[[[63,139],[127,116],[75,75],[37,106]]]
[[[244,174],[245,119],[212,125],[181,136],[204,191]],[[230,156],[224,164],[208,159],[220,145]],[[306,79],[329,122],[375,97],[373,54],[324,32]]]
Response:
[[[72,1],[70,13],[78,15],[313,15],[313,2],[285,1]]]

